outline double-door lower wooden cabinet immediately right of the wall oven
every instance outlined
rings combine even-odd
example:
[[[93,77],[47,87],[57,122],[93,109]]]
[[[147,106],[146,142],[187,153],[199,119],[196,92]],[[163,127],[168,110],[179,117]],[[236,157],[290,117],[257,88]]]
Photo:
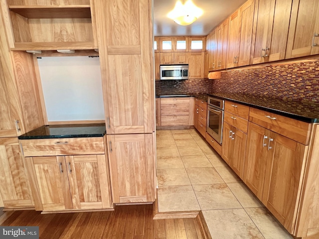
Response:
[[[247,134],[224,121],[221,157],[243,179]]]

